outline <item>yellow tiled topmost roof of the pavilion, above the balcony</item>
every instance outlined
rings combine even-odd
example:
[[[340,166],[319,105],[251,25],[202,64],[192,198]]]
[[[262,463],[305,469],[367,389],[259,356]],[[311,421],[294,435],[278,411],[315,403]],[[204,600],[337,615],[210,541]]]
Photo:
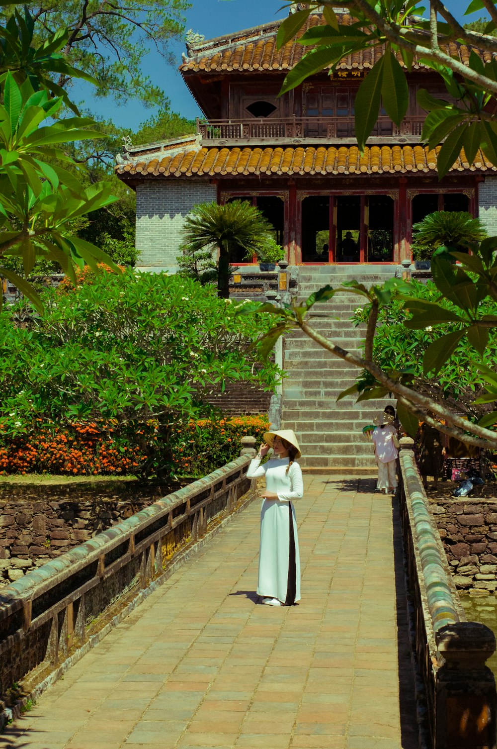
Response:
[[[349,14],[341,16],[341,23],[350,25],[353,23],[353,17]],[[308,22],[297,38],[302,37],[308,28],[321,25],[325,21],[320,13],[311,13]],[[278,33],[279,23],[263,28],[254,28],[252,31],[242,31],[240,34],[234,34],[228,42],[225,37],[218,40],[211,40],[212,43],[206,42],[198,45],[198,49],[192,48],[192,57],[187,58],[180,66],[183,73],[189,72],[211,72],[223,73],[232,70],[241,70],[251,72],[254,70],[289,70],[302,59],[302,55],[308,52],[309,47],[302,46],[292,40],[285,44],[281,49],[276,49],[276,34]],[[222,43],[222,44],[221,44]],[[466,44],[450,43],[440,45],[444,52],[451,57],[458,58],[465,65],[469,64],[469,55],[472,50]],[[484,62],[490,62],[492,55],[490,52],[482,52],[475,49],[475,52]],[[360,52],[353,52],[352,55],[344,57],[337,66],[338,70],[368,69],[385,54],[385,46],[375,47],[373,49],[363,49]],[[397,59],[403,65],[402,57],[397,55]],[[420,59],[415,56],[412,68],[414,70],[428,70]]]

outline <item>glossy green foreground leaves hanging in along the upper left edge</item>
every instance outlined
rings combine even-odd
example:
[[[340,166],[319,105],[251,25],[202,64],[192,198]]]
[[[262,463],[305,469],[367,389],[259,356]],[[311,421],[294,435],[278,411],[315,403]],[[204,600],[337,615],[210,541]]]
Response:
[[[11,267],[0,267],[0,274],[41,311],[40,297],[25,280],[37,259],[55,261],[72,276],[75,264],[112,264],[76,236],[74,223],[115,198],[109,184],[87,187],[67,168],[76,166],[67,143],[98,135],[52,80],[59,73],[93,81],[64,57],[67,32],[55,31],[37,47],[26,8],[24,17],[15,13],[0,27],[0,41],[0,263],[22,257],[24,277]],[[73,116],[66,116],[69,107]]]

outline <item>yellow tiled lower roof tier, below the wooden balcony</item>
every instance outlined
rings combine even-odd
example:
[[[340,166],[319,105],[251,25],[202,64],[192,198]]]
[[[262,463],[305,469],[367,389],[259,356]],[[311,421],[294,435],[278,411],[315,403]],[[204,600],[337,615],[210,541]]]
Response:
[[[373,175],[392,172],[435,172],[441,146],[372,145],[360,154],[357,146],[303,146],[268,148],[201,148],[174,156],[149,158],[116,167],[124,179],[132,175],[156,177],[237,175]],[[461,151],[451,171],[497,171],[478,151],[469,164]]]

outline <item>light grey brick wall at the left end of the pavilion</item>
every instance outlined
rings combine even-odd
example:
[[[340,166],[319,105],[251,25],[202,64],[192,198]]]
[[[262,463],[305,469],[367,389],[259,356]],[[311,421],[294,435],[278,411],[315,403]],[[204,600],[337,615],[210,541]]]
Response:
[[[173,270],[185,217],[198,203],[215,201],[217,190],[195,180],[153,181],[136,188],[137,267]]]

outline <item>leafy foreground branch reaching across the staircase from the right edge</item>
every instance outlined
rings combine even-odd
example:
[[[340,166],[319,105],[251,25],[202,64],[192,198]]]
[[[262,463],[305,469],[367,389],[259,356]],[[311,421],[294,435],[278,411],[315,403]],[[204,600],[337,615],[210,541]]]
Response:
[[[403,322],[406,336],[409,330],[424,330],[427,327],[443,333],[427,345],[423,355],[423,374],[436,377],[442,366],[461,342],[469,348],[473,366],[485,383],[477,403],[495,404],[497,401],[497,375],[487,366],[486,352],[490,333],[497,328],[497,237],[488,237],[479,245],[472,245],[472,255],[466,252],[450,252],[440,248],[433,255],[433,282],[439,299],[413,295],[410,285],[400,279],[388,279],[383,285],[365,285],[352,281],[342,287],[326,285],[305,301],[276,307],[272,304],[257,304],[240,311],[270,312],[275,318],[272,330],[263,336],[263,351],[271,351],[275,342],[284,333],[299,328],[317,344],[332,354],[356,366],[361,375],[350,388],[341,393],[357,394],[359,400],[383,398],[389,393],[397,398],[397,413],[403,427],[412,436],[422,419],[446,434],[465,443],[487,449],[497,449],[497,433],[490,428],[497,423],[497,411],[478,415],[472,419],[460,415],[457,404],[446,398],[433,397],[429,390],[413,382],[412,371],[397,366],[379,366],[378,357],[373,356],[373,345],[378,332],[379,312],[391,305],[392,300],[401,303],[405,312]],[[454,264],[460,261],[460,267]],[[338,342],[326,338],[312,324],[313,307],[326,302],[336,294],[357,294],[367,300],[367,330],[364,354],[347,351]],[[445,332],[449,328],[450,332]],[[381,343],[380,343],[381,345]],[[385,360],[382,362],[385,364]],[[442,423],[444,422],[444,423]]]

